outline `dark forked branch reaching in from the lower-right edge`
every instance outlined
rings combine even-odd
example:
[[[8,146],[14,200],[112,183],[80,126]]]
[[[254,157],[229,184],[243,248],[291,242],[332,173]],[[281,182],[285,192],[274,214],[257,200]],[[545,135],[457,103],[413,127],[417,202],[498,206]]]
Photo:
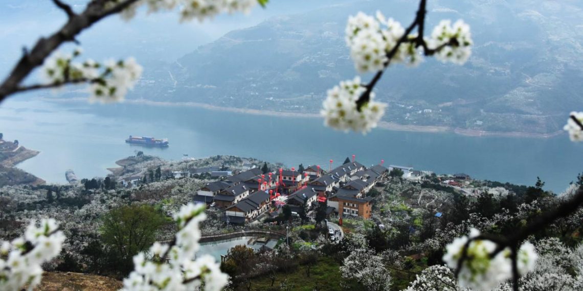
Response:
[[[470,257],[468,255],[468,247],[470,243],[475,240],[490,240],[497,244],[496,250],[490,254],[490,258],[495,257],[500,251],[503,251],[507,247],[511,251],[511,261],[512,261],[512,288],[514,291],[518,291],[518,279],[520,274],[518,273],[518,251],[519,245],[528,237],[536,232],[539,232],[541,229],[546,228],[553,222],[557,221],[560,218],[568,217],[569,215],[573,214],[577,211],[581,205],[583,205],[583,186],[580,186],[577,190],[577,193],[573,195],[569,200],[563,201],[557,208],[554,210],[544,212],[542,215],[539,215],[535,219],[533,219],[528,225],[524,228],[518,229],[514,235],[508,237],[501,237],[501,236],[492,236],[492,235],[480,235],[477,237],[472,237],[468,239],[462,249],[462,255],[459,257],[457,268],[455,269],[455,278],[457,279],[459,276],[459,271],[462,268],[463,262],[469,260]]]

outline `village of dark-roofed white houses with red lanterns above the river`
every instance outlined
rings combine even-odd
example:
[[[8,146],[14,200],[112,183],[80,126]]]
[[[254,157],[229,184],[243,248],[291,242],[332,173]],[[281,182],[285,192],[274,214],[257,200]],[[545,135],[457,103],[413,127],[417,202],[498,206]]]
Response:
[[[332,168],[332,162],[327,171],[319,165],[269,172],[250,168],[207,183],[196,192],[194,201],[223,210],[222,220],[234,225],[276,217],[284,205],[289,205],[296,217],[302,211],[311,216],[319,204],[326,205],[327,217],[333,214],[341,224],[342,217],[371,217],[373,197],[367,194],[374,186],[386,182],[390,171],[400,170],[403,178],[421,175],[410,167],[385,167],[384,160],[367,167],[356,161],[354,155],[352,161],[336,168]]]

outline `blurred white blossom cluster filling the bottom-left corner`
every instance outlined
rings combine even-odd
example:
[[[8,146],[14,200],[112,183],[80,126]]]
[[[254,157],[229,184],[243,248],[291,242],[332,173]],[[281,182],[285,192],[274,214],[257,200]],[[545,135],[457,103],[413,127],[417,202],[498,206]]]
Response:
[[[65,235],[54,219],[43,219],[40,225],[31,221],[24,232],[12,242],[0,242],[0,290],[32,290],[40,283],[41,264],[52,260],[62,249]]]

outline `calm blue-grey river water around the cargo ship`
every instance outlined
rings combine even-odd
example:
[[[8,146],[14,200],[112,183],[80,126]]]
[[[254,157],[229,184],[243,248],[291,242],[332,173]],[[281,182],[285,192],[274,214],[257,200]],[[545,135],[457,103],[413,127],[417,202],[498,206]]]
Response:
[[[79,178],[105,176],[116,160],[138,150],[167,159],[230,154],[324,168],[329,159],[339,165],[356,154],[365,165],[384,159],[385,164],[519,184],[533,184],[540,176],[553,191],[564,190],[583,171],[583,144],[571,143],[566,135],[530,139],[374,130],[361,136],[327,129],[315,118],[199,108],[64,104],[16,97],[0,105],[0,132],[5,139],[18,139],[41,151],[19,167],[54,183],[65,183],[66,169],[74,169]],[[130,134],[167,137],[170,147],[125,144]]]

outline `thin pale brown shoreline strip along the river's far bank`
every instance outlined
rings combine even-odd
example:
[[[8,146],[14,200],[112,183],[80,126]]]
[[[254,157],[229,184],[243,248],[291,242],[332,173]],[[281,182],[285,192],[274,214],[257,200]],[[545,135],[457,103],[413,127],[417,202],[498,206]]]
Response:
[[[87,102],[86,98],[41,98],[44,101],[55,102]],[[292,118],[321,118],[317,113],[303,113],[303,112],[280,112],[264,109],[251,108],[234,108],[234,107],[220,107],[200,102],[166,102],[166,101],[151,101],[151,100],[125,100],[128,104],[149,105],[154,107],[194,107],[203,108],[213,111],[226,111],[235,113],[244,113],[250,115],[274,116],[274,117],[292,117]],[[529,137],[536,139],[548,139],[555,137],[564,132],[559,130],[552,133],[532,133],[532,132],[488,132],[484,130],[462,129],[459,127],[449,126],[429,126],[429,125],[402,125],[394,122],[381,121],[378,123],[378,128],[384,130],[392,130],[398,132],[424,132],[424,133],[455,133],[461,136],[471,137]]]

